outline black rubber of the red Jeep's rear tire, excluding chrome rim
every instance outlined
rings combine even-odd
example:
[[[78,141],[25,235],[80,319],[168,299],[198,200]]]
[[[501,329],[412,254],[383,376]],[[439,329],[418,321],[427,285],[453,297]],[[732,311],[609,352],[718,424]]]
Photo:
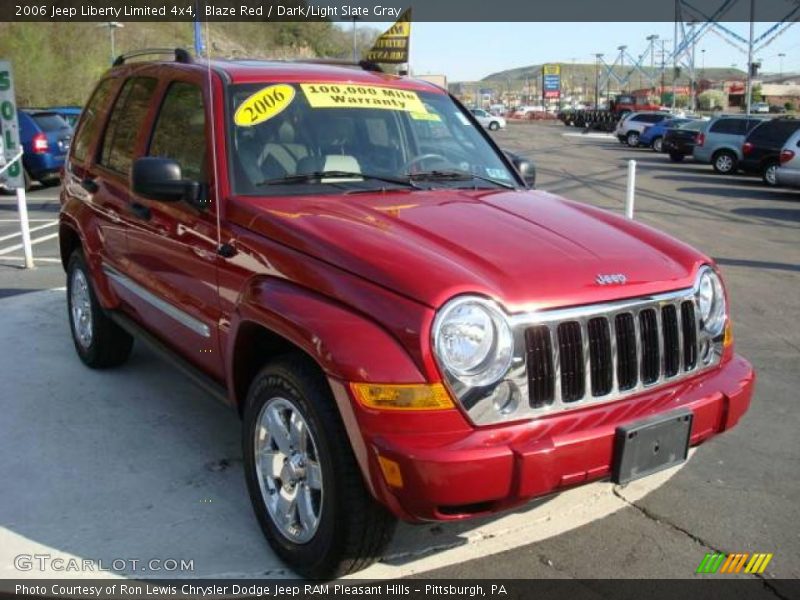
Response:
[[[86,292],[89,303],[87,312],[91,317],[91,338],[88,343],[85,340],[82,341],[77,332],[76,315],[73,310],[75,301],[73,288],[79,284],[78,275],[76,275],[77,271],[82,274],[87,286]],[[97,301],[97,295],[94,292],[89,270],[86,268],[86,260],[80,250],[72,253],[67,264],[67,313],[69,314],[70,332],[72,333],[72,341],[75,344],[75,351],[83,364],[92,369],[105,369],[119,366],[128,360],[133,348],[133,337],[114,323],[100,306]]]

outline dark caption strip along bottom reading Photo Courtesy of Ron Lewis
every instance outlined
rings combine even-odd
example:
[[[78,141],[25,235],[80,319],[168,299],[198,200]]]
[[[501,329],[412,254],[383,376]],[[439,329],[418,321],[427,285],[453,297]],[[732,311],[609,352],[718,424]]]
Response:
[[[621,575],[608,573],[609,577]],[[569,576],[569,572],[561,573]],[[687,573],[687,576],[691,576]],[[556,575],[557,576],[557,575]],[[725,579],[395,579],[330,582],[276,579],[42,579],[0,580],[1,598],[70,598],[103,600],[220,600],[286,598],[331,600],[598,600],[682,598],[775,600],[800,597],[798,580]]]

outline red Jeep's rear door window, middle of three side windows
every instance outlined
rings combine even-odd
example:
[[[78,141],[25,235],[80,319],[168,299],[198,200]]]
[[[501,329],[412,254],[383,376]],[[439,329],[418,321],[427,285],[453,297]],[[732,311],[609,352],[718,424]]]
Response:
[[[155,88],[156,80],[149,77],[137,77],[125,82],[108,122],[100,155],[101,165],[128,173],[133,163],[136,137]]]

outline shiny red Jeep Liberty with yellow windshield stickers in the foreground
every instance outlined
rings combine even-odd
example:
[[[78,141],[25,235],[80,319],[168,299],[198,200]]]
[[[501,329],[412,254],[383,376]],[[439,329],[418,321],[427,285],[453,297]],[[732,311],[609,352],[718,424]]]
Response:
[[[259,523],[311,577],[396,518],[682,462],[753,390],[713,261],[531,169],[372,65],[121,57],[63,177],[77,354],[137,338],[239,411]]]

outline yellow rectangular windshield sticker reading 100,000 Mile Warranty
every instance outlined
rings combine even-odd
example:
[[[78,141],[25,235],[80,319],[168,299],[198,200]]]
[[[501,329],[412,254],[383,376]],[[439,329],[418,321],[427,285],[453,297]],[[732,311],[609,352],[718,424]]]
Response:
[[[346,83],[301,83],[312,108],[379,108],[427,113],[416,92]]]

